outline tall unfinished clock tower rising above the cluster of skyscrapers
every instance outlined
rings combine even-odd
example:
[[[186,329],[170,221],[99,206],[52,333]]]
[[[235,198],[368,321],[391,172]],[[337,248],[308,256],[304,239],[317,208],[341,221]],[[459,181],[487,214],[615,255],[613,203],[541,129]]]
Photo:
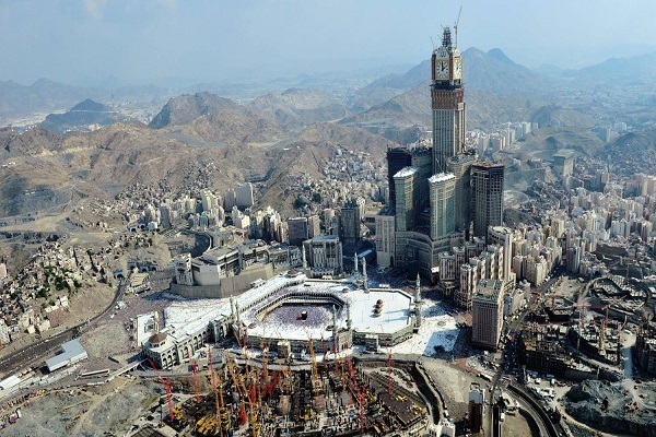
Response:
[[[431,58],[433,108],[433,174],[446,172],[446,161],[465,150],[465,90],[462,57],[452,44],[449,27]]]

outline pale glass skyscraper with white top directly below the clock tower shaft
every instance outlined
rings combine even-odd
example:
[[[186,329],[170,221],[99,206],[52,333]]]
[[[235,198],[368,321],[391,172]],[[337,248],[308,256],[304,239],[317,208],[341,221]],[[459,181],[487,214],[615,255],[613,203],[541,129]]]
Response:
[[[431,238],[446,237],[456,229],[456,177],[441,173],[429,179],[431,187]]]

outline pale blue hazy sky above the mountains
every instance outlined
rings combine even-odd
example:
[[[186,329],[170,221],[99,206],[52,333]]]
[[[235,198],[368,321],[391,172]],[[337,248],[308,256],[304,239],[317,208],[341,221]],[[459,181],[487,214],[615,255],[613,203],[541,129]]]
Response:
[[[221,80],[419,63],[459,47],[528,67],[656,49],[654,0],[0,0],[0,80]]]

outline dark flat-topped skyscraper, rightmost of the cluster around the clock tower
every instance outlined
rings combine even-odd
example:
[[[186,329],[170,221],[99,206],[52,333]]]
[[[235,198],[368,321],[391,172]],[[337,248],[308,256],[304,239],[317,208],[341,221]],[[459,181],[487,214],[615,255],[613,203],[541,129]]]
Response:
[[[473,235],[488,238],[489,226],[503,223],[502,163],[476,163],[471,166]]]

